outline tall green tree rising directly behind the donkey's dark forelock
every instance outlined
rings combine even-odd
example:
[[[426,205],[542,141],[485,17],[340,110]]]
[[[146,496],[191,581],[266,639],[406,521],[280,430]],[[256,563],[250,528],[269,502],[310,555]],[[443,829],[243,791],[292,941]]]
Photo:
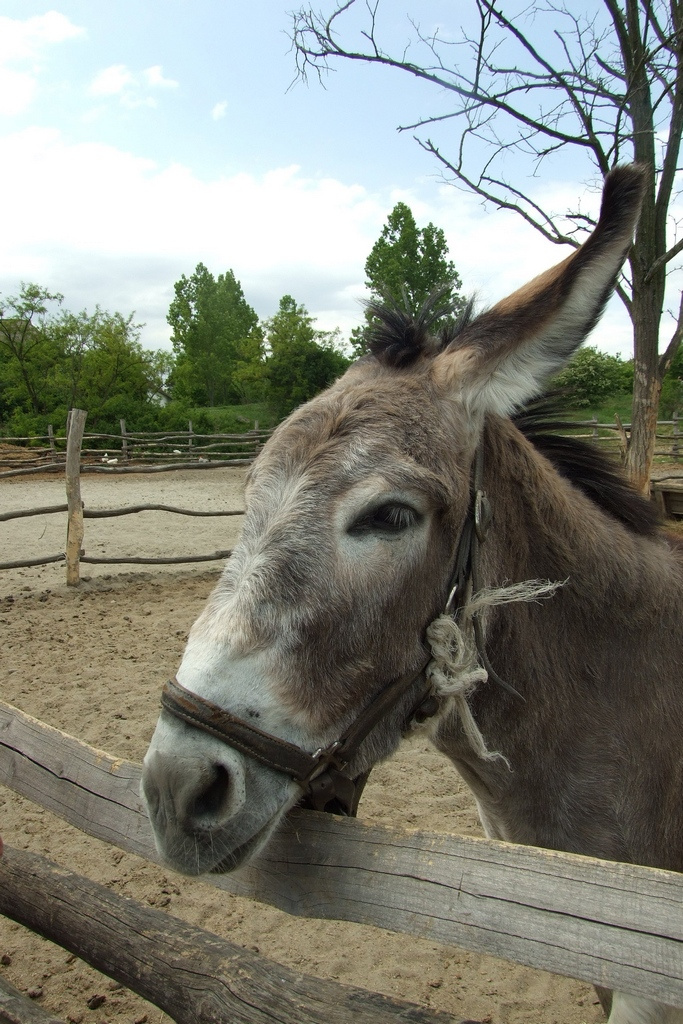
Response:
[[[464,304],[458,295],[462,282],[447,254],[442,229],[432,223],[419,228],[411,208],[397,203],[366,260],[371,299],[389,300],[417,313],[434,289],[443,288],[444,305],[450,303],[457,312]],[[356,355],[367,351],[372,327],[368,310],[366,324],[351,333]]]

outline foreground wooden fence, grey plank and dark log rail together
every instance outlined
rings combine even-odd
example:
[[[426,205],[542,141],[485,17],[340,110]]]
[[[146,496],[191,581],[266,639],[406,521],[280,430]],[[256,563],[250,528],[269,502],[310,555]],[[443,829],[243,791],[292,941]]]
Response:
[[[0,781],[88,836],[158,862],[139,778],[139,765],[0,702]],[[291,914],[371,924],[683,1007],[677,872],[296,810],[256,864],[204,881]],[[96,912],[92,900],[101,901]],[[0,859],[0,912],[183,1024],[450,1019],[273,968],[18,851]],[[282,980],[273,987],[273,979]]]

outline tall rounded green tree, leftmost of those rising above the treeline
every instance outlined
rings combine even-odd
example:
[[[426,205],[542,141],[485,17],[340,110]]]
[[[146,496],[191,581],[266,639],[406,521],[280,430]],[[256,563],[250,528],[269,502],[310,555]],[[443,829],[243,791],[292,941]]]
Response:
[[[174,394],[201,406],[226,404],[241,398],[233,380],[245,342],[258,329],[231,270],[218,278],[198,263],[191,276],[175,283],[168,311],[177,366]]]

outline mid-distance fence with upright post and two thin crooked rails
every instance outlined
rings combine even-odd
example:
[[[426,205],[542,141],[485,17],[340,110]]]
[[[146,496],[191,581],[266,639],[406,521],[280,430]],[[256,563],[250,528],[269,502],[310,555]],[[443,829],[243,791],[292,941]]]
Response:
[[[86,413],[83,410],[72,410],[69,421],[69,435],[66,452],[66,463],[63,468],[67,485],[67,504],[50,505],[42,508],[20,509],[13,512],[0,514],[0,522],[7,522],[10,519],[20,519],[34,515],[51,515],[54,513],[67,513],[67,545],[65,552],[54,555],[45,555],[42,558],[18,559],[13,561],[0,562],[0,569],[16,569],[34,565],[48,565],[52,562],[66,562],[67,584],[76,586],[80,582],[80,564],[82,562],[91,565],[175,565],[189,562],[216,561],[229,557],[231,551],[214,551],[206,555],[178,555],[174,557],[150,558],[145,556],[129,556],[126,558],[101,557],[86,555],[83,542],[85,536],[84,519],[105,519],[114,516],[133,515],[138,512],[159,511],[174,512],[177,515],[212,517],[212,516],[233,516],[244,515],[242,509],[231,511],[199,511],[195,509],[181,509],[172,505],[130,505],[120,509],[85,509],[81,499],[81,473],[84,466],[81,461],[83,429],[85,425]],[[211,463],[209,465],[225,465],[225,463]],[[233,465],[230,463],[230,465]],[[87,467],[85,467],[87,468]],[[165,466],[164,469],[184,468],[182,466]],[[148,471],[148,467],[147,467]],[[4,475],[4,474],[0,474]],[[11,475],[11,474],[9,474]],[[0,1022],[1,1024],[1,1022]]]

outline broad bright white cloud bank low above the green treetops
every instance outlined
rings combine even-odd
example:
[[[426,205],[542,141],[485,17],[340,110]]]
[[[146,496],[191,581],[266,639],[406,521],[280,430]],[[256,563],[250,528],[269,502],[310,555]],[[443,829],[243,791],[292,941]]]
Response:
[[[290,293],[322,329],[347,336],[362,317],[368,253],[399,198],[420,225],[443,227],[465,291],[482,303],[567,254],[513,214],[486,213],[454,188],[373,195],[296,166],[202,180],[179,164],[70,144],[41,128],[0,138],[0,194],[12,197],[0,232],[0,292],[36,281],[63,292],[70,308],[135,309],[153,346],[168,343],[173,283],[199,261],[214,273],[231,268],[259,315]],[[593,342],[630,355],[618,301]]]

